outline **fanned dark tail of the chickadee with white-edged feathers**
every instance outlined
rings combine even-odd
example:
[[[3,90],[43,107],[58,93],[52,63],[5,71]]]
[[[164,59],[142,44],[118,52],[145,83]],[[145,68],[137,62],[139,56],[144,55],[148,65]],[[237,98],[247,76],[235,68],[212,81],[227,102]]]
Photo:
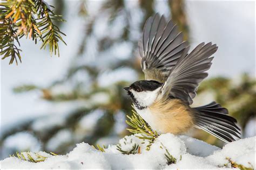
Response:
[[[228,110],[220,104],[212,102],[194,109],[196,110],[197,128],[203,129],[226,143],[240,138],[240,129],[235,124],[237,120],[228,116]]]

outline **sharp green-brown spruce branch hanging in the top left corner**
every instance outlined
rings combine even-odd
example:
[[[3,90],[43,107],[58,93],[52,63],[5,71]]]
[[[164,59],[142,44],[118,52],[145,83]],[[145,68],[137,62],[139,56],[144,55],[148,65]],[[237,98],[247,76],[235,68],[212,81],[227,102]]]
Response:
[[[59,15],[55,15],[51,8],[42,0],[22,0],[15,1],[9,0],[0,3],[0,55],[3,55],[2,59],[10,57],[9,64],[14,60],[17,62],[17,58],[21,62],[21,55],[18,47],[15,45],[15,41],[22,37],[26,37],[35,40],[42,40],[42,48],[49,46],[50,54],[54,52],[59,56],[59,40],[65,45],[61,34],[65,36],[53,23],[53,20],[64,22]],[[19,45],[20,46],[20,45]]]

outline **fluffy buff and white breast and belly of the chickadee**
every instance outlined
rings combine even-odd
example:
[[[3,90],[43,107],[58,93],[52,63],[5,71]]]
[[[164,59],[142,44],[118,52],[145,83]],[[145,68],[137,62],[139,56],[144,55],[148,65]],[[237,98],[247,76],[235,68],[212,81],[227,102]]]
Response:
[[[159,133],[186,133],[193,127],[192,109],[180,100],[156,101],[137,113]]]

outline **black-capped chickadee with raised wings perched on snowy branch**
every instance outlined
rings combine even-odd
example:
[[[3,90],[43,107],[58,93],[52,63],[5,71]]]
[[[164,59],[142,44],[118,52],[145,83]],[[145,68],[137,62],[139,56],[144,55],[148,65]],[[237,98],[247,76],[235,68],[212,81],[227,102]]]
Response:
[[[218,47],[200,43],[191,52],[173,20],[163,15],[146,20],[138,42],[145,80],[124,90],[136,112],[158,133],[186,134],[204,130],[226,143],[241,138],[237,120],[217,102],[191,107],[199,83],[207,77]]]

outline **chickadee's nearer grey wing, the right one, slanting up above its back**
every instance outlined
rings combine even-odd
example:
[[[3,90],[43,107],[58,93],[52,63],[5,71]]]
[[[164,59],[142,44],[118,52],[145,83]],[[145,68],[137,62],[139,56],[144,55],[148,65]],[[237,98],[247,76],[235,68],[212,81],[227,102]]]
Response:
[[[189,47],[186,48],[180,57],[177,65],[173,67],[170,75],[162,87],[163,97],[174,97],[192,104],[196,96],[198,84],[207,77],[208,70],[212,63],[214,54],[218,47],[211,42],[201,43],[190,54],[187,54]]]

